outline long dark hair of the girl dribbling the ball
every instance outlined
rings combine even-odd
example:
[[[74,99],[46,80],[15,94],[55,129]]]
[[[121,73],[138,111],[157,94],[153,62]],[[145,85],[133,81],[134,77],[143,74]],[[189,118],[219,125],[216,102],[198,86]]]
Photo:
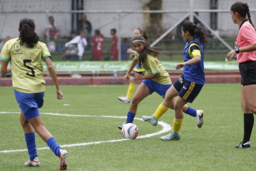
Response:
[[[144,41],[144,44],[145,44],[144,49],[139,54],[140,66],[144,64],[148,54],[152,55],[153,57],[157,57],[157,59],[159,59],[159,47],[151,47],[149,45],[149,42],[146,41],[145,38],[143,38],[142,36],[135,36],[134,38],[131,39],[131,42],[133,42],[134,40],[142,40]]]

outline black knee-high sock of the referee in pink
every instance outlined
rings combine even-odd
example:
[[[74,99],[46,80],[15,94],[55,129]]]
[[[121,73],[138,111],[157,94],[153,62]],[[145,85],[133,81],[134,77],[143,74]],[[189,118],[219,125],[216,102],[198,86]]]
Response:
[[[250,141],[253,131],[254,116],[253,114],[244,114],[244,140],[242,143]]]

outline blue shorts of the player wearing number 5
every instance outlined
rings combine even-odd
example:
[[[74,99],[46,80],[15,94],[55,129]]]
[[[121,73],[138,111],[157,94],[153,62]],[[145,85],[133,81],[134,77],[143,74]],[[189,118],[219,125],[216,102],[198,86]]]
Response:
[[[42,105],[44,105],[44,92],[39,93],[24,93],[24,92],[18,92],[17,90],[14,90],[14,94],[16,97],[16,101],[18,103],[18,106],[21,108],[21,111],[23,111],[23,114],[27,119],[35,118],[36,116],[39,116],[38,110],[36,112],[27,112],[31,108],[41,108]]]

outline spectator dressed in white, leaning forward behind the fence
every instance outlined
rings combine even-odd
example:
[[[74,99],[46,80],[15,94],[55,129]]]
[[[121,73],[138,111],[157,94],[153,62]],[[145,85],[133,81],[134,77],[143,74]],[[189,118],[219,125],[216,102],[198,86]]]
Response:
[[[85,36],[86,36],[86,33],[84,31],[80,31],[80,35],[75,36],[75,38],[73,38],[69,42],[66,42],[66,44],[65,44],[65,50],[71,44],[73,44],[74,46],[77,46],[77,49],[78,49],[78,51],[77,51],[77,60],[78,61],[82,60],[82,57],[84,55],[84,49],[87,46],[87,41],[86,41]]]

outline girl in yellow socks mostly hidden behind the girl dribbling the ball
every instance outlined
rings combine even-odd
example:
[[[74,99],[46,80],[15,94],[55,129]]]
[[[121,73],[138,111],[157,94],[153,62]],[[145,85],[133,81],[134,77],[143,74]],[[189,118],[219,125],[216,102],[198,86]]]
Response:
[[[144,31],[144,29],[138,27],[137,29],[134,29],[134,32],[133,32],[133,35],[134,36],[142,36],[146,41],[148,41],[148,36],[146,35],[146,31]],[[129,48],[127,50],[127,53],[129,53],[131,55],[131,57],[135,57],[136,55],[136,51],[133,51],[133,49]],[[137,64],[135,67],[134,67],[134,71],[136,73],[140,73],[141,75],[145,75],[145,69],[142,68],[140,66],[140,64]],[[118,99],[120,101],[123,101],[123,103],[130,103],[131,101],[131,95],[133,94],[133,91],[134,91],[134,88],[135,88],[135,81],[136,79],[134,77],[131,77],[130,79],[130,83],[129,83],[129,88],[127,90],[127,94],[126,96],[118,96]]]

